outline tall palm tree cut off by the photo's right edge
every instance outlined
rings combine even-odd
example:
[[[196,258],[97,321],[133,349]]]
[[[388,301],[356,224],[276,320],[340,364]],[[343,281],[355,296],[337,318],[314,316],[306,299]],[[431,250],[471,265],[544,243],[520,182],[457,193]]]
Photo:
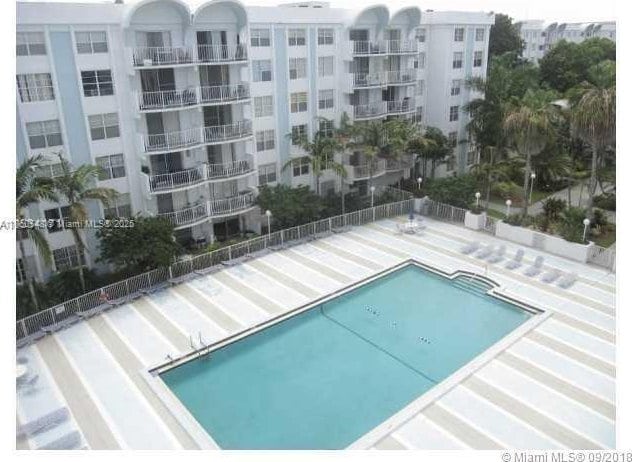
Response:
[[[592,215],[593,197],[597,188],[599,154],[615,138],[616,87],[586,87],[583,95],[571,109],[571,130],[590,145],[592,152],[588,210]]]

